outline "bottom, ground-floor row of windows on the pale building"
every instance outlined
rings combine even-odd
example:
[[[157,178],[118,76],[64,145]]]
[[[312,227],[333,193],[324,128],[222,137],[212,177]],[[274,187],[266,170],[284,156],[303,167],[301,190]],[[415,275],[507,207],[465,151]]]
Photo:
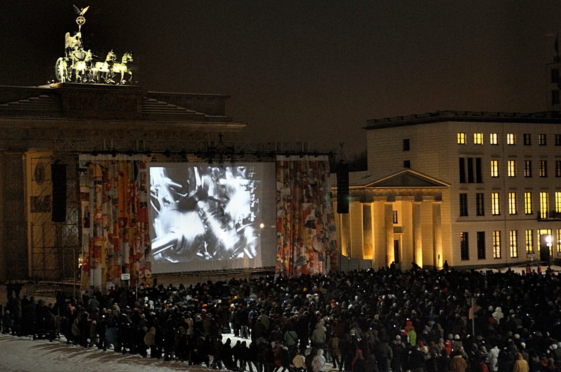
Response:
[[[549,255],[553,256],[553,239],[551,239],[551,230],[536,230],[537,241],[540,242],[539,249],[549,250]],[[485,247],[485,231],[477,231],[477,259],[486,259]],[[509,238],[509,254],[511,258],[518,257],[518,230],[510,230]],[[534,230],[525,230],[526,254],[534,254]],[[557,253],[561,254],[561,229],[557,229]],[[549,238],[548,238],[549,237]],[[469,233],[462,231],[459,233],[460,255],[462,260],[470,259],[470,243]],[[493,231],[493,258],[501,258],[501,236],[500,231]]]

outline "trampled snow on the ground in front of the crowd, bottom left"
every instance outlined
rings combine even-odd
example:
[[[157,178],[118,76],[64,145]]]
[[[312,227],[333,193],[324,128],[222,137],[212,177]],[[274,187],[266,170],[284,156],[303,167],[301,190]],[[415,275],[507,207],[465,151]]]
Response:
[[[66,345],[64,342],[31,340],[0,334],[0,371],[3,372],[209,372],[185,362],[122,355],[114,351]]]

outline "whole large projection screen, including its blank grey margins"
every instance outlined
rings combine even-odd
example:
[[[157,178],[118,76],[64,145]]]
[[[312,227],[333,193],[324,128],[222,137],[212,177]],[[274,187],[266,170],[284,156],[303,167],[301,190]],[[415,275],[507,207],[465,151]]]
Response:
[[[274,266],[274,162],[148,166],[154,273]]]

